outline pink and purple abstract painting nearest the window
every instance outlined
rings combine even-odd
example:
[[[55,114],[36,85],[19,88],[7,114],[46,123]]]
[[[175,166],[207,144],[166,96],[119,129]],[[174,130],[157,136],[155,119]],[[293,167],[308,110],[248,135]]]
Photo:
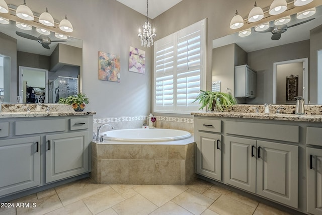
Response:
[[[130,46],[129,71],[145,74],[145,51]]]

